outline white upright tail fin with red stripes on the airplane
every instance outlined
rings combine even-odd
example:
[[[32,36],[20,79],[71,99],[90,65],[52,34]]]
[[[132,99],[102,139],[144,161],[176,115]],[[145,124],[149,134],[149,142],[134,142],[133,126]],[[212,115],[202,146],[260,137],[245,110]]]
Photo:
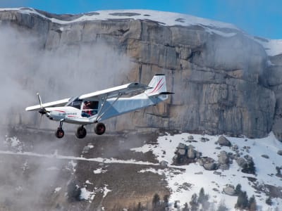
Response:
[[[163,74],[154,75],[148,85],[150,88],[145,91],[147,96],[160,94],[166,92],[166,76]]]

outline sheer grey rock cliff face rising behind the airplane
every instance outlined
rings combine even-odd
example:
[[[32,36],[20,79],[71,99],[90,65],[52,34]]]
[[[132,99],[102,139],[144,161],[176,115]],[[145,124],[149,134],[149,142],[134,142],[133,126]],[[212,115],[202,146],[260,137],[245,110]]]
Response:
[[[112,15],[108,20],[99,20],[99,13],[92,13],[88,16],[96,15],[97,20],[74,21],[81,15],[54,16],[37,11],[38,15],[29,13],[32,10],[28,8],[21,10],[25,12],[0,11],[0,28],[9,25],[36,34],[45,51],[103,42],[130,58],[133,65],[128,80],[140,77],[147,83],[154,74],[167,75],[168,90],[176,94],[158,109],[130,113],[130,121],[114,121],[114,130],[161,127],[262,137],[274,123],[277,136],[282,137],[278,127],[282,89],[267,85],[282,83],[280,66],[274,71],[276,75],[263,83],[269,58],[257,41],[239,30],[166,25],[149,20],[149,15],[144,20],[133,19],[133,13],[121,19]],[[281,59],[277,60],[281,65]]]

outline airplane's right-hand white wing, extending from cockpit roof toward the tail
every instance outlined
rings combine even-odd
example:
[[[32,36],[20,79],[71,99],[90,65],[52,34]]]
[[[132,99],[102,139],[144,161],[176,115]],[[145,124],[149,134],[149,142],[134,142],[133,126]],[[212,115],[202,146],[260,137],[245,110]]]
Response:
[[[121,96],[123,94],[131,94],[135,91],[144,91],[149,88],[151,87],[148,87],[145,84],[139,84],[139,83],[133,82],[130,84],[124,84],[124,85],[113,87],[110,89],[94,91],[90,94],[82,94],[81,96],[79,96],[79,99],[87,100],[87,101],[95,101],[101,98],[114,98],[114,97]]]

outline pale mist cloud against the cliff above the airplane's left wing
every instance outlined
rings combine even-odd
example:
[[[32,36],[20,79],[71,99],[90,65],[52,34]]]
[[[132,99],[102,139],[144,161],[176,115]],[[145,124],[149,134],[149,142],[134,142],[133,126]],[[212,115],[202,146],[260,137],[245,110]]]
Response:
[[[42,101],[56,101],[106,89],[126,82],[130,59],[111,46],[59,46],[47,51],[39,37],[11,27],[0,31],[2,124],[28,123],[35,115],[25,112]]]

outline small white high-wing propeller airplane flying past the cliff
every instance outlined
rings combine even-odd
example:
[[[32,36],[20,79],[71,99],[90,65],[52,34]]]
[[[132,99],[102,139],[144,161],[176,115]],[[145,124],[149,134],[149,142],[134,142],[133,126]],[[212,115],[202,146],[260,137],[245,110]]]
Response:
[[[121,96],[141,92],[135,96]],[[166,91],[165,75],[154,75],[149,85],[132,82],[130,84],[95,91],[90,94],[82,94],[73,98],[65,98],[50,103],[42,103],[39,94],[39,105],[30,106],[25,110],[38,110],[50,120],[59,121],[60,126],[56,130],[56,137],[63,138],[63,122],[81,124],[75,136],[83,139],[86,136],[85,125],[96,124],[94,132],[98,135],[106,131],[105,124],[101,121],[116,117],[133,110],[156,105],[168,98],[172,92]]]

